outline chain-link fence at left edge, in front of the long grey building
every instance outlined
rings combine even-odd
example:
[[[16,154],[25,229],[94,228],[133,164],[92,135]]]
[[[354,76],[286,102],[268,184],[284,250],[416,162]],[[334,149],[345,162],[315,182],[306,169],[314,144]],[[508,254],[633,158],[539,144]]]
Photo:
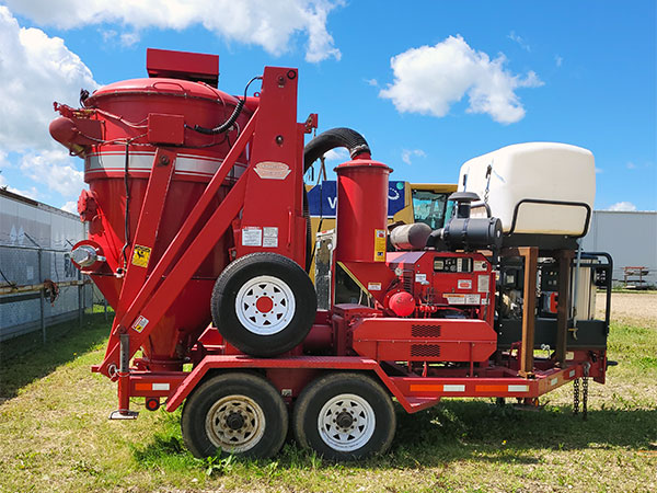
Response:
[[[36,331],[46,343],[49,326],[76,320],[81,325],[84,310],[99,298],[72,264],[70,248],[42,248],[25,239],[22,245],[0,245],[0,344]],[[102,303],[102,297],[95,301]]]

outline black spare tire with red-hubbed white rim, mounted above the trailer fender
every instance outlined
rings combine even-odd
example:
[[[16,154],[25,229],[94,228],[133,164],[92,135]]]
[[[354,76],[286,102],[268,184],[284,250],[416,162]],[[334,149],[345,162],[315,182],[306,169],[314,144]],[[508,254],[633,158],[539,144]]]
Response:
[[[300,344],[312,326],[318,297],[308,274],[277,253],[229,264],[212,290],[212,321],[243,353],[276,356]]]

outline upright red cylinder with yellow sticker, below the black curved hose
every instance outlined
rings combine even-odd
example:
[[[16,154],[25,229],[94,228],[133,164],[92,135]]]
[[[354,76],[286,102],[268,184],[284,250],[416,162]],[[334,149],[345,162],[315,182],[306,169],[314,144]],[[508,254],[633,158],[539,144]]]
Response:
[[[335,169],[338,262],[385,262],[391,171],[381,162],[365,159],[348,161]]]

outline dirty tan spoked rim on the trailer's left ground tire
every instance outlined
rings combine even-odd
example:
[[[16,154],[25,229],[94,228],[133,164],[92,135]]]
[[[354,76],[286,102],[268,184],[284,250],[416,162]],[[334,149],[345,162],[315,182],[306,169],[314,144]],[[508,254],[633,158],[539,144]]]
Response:
[[[210,408],[206,433],[215,447],[231,454],[244,452],[263,437],[265,413],[246,395],[227,395]]]

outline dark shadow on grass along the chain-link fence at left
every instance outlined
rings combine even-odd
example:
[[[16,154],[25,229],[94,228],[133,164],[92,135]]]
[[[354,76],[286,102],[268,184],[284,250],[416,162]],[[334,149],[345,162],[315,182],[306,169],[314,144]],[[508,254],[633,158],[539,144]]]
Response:
[[[83,320],[81,328],[78,320],[49,326],[51,342],[45,345],[41,332],[1,343],[0,399],[15,397],[22,387],[104,342],[112,322],[105,321],[103,313],[87,313]]]

